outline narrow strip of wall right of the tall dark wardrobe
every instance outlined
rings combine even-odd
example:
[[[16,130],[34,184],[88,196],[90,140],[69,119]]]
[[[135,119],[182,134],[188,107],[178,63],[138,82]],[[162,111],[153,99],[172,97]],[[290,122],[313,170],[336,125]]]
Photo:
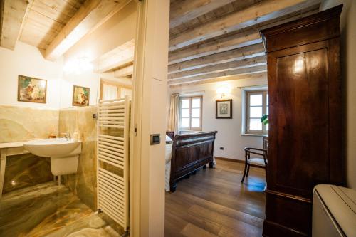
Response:
[[[356,189],[356,1],[325,0],[320,10],[344,4],[340,20],[341,70],[344,80],[346,110],[346,171],[347,185]]]

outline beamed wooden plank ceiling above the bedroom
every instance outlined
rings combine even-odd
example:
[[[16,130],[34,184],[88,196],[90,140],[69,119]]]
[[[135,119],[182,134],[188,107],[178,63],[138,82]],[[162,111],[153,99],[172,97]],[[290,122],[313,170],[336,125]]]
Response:
[[[168,85],[266,77],[259,31],[318,12],[321,0],[171,0]]]

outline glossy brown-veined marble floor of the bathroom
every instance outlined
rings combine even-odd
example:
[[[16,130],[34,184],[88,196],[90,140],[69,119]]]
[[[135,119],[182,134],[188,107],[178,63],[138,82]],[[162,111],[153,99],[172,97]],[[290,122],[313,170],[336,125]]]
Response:
[[[66,186],[53,182],[11,191],[0,199],[0,236],[116,237]]]

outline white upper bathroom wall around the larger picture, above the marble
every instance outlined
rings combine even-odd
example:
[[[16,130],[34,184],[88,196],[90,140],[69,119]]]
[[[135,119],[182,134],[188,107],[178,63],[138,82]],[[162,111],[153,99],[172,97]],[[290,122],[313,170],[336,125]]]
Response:
[[[14,51],[0,47],[0,62],[0,105],[58,109],[62,58],[45,60],[38,48],[18,42]],[[47,80],[46,104],[17,101],[19,75]]]

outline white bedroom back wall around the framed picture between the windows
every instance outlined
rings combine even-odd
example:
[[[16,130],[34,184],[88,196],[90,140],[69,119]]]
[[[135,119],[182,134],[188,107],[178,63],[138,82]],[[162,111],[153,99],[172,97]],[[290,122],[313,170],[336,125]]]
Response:
[[[214,155],[216,157],[244,160],[244,147],[262,148],[262,137],[241,135],[243,133],[241,100],[243,92],[238,87],[266,84],[266,78],[230,80],[221,83],[206,83],[171,88],[169,92],[172,94],[204,91],[202,115],[203,131],[218,131],[216,135]],[[216,89],[221,86],[231,88],[231,93],[226,95],[225,98],[232,99],[232,119],[215,118],[215,100],[221,99],[221,96],[216,93]],[[170,97],[168,97],[167,100],[170,100]],[[167,101],[167,107],[167,111],[169,111],[169,101]],[[224,147],[224,150],[220,150],[219,147]]]

